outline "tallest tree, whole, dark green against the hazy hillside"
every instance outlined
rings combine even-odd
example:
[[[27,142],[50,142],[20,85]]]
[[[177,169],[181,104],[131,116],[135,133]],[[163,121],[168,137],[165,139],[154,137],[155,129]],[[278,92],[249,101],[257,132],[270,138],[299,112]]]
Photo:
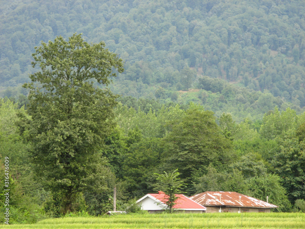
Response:
[[[122,60],[105,49],[105,44],[88,44],[81,34],[66,41],[41,42],[35,47],[30,75],[27,132],[33,144],[36,175],[53,193],[62,196],[63,213],[71,211],[77,193],[93,184],[100,169],[104,140],[114,127],[114,96],[93,86],[104,85],[109,76],[124,71]],[[97,187],[99,188],[99,187]]]

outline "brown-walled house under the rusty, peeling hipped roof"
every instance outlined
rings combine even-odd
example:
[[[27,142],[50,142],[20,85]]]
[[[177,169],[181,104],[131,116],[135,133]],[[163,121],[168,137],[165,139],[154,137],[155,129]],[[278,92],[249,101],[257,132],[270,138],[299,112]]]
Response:
[[[203,192],[190,199],[206,207],[211,212],[270,212],[278,206],[237,192]]]

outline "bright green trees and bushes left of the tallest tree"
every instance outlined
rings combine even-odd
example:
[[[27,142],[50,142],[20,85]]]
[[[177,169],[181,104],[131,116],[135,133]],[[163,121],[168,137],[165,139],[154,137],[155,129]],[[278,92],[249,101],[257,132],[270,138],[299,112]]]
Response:
[[[0,167],[4,172],[4,158],[8,157],[10,223],[35,223],[45,218],[40,201],[43,191],[41,185],[33,180],[28,153],[30,145],[18,134],[17,114],[28,117],[24,107],[18,108],[18,104],[0,99]],[[4,187],[4,176],[0,181]],[[5,212],[3,190],[0,192],[0,205],[1,211]],[[3,217],[0,220],[3,222]]]

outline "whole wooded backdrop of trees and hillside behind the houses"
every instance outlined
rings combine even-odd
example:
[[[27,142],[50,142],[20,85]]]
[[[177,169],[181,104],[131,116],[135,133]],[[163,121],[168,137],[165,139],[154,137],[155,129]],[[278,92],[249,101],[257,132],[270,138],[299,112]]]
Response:
[[[113,187],[117,209],[137,211],[135,199],[156,191],[155,174],[176,169],[187,195],[236,191],[269,196],[276,211],[302,209],[304,7],[288,0],[3,2],[0,158],[10,160],[12,222],[101,215],[113,207]],[[54,68],[37,56],[72,35],[88,43],[71,60],[98,60],[88,57],[90,43],[108,59],[69,84],[60,72],[69,61],[54,57],[59,49],[44,57]],[[45,49],[34,48],[41,40]],[[24,84],[30,79],[41,84]],[[72,163],[74,151],[83,157]],[[64,193],[69,180],[77,192]]]

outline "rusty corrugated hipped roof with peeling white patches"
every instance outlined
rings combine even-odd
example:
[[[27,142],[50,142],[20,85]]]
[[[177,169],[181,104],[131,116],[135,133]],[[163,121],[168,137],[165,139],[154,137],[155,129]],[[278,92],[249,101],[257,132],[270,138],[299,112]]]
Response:
[[[278,206],[249,197],[237,192],[203,192],[191,196],[190,199],[197,203],[208,206],[239,206],[239,207],[259,207],[259,208],[277,208]]]

